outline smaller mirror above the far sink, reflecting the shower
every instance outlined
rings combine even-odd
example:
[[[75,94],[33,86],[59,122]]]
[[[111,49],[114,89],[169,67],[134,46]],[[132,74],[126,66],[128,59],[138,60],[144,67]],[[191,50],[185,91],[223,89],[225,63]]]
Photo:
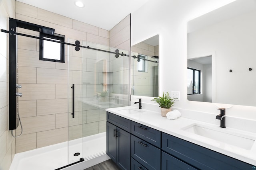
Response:
[[[158,97],[159,36],[132,46],[131,94]]]

